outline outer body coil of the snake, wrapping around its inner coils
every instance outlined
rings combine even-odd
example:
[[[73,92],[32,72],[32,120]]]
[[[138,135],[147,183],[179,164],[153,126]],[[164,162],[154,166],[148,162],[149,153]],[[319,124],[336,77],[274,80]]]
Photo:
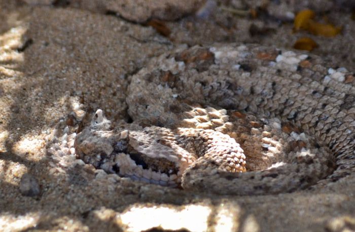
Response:
[[[152,60],[132,76],[127,103],[134,120],[169,128],[191,127],[184,119],[194,115],[185,112],[188,105],[199,104],[244,110],[259,118],[275,117],[281,125],[290,121],[314,137],[316,142],[310,143],[323,149],[321,153],[314,151],[307,161],[275,168],[273,174],[270,169],[216,173],[202,164],[189,173],[185,183],[183,177],[186,188],[265,194],[316,182],[327,184],[354,169],[354,85],[352,73],[330,69],[316,56],[257,45],[217,45],[171,52]]]

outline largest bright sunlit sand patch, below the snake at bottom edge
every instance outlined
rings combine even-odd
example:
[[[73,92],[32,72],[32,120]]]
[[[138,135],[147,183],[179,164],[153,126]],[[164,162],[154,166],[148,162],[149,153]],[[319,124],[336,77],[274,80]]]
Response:
[[[237,231],[240,208],[235,204],[221,204],[217,208],[204,205],[187,205],[180,210],[168,206],[133,206],[118,219],[126,231],[161,230]],[[248,228],[258,231],[255,221],[247,222]],[[245,226],[245,223],[244,223]],[[245,230],[246,231],[246,230]]]

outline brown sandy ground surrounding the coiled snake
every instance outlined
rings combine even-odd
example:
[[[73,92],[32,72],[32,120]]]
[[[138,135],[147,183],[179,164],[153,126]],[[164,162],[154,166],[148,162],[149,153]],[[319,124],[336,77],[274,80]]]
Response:
[[[354,173],[317,191],[217,196],[108,178],[90,168],[85,174],[63,173],[46,153],[55,125],[70,112],[101,108],[111,119],[129,121],[129,76],[151,57],[184,44],[291,49],[306,35],[319,45],[311,54],[355,71],[355,21],[348,5],[290,1],[271,4],[269,15],[251,19],[229,11],[240,7],[239,1],[195,1],[183,8],[176,2],[184,1],[139,7],[129,1],[102,1],[100,7],[95,1],[73,2],[0,1],[0,230],[355,230]],[[243,7],[253,6],[257,3]],[[305,7],[327,12],[331,22],[343,25],[342,33],[332,38],[292,33],[288,17]],[[174,21],[147,23],[151,18]],[[255,33],[252,24],[259,28],[252,27]],[[25,184],[32,191],[23,190]]]

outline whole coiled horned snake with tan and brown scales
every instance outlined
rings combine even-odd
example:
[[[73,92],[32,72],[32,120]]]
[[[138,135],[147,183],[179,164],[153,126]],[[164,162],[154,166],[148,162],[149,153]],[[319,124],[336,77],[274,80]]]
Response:
[[[76,154],[135,180],[218,194],[322,186],[354,170],[354,80],[319,57],[256,45],[172,51],[131,77],[128,112],[152,126],[111,130],[98,110]]]

